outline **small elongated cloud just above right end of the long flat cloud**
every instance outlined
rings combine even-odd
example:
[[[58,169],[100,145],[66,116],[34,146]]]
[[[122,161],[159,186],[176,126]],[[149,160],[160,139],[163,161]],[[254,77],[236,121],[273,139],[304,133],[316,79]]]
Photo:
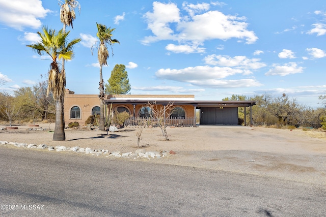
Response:
[[[221,67],[235,67],[238,69],[260,69],[265,67],[266,64],[260,63],[258,58],[247,58],[246,56],[234,56],[227,55],[208,55],[204,58],[205,63],[209,65],[221,66]]]

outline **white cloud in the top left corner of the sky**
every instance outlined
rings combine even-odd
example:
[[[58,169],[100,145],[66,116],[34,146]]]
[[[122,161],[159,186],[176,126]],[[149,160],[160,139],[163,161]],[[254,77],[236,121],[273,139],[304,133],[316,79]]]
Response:
[[[42,25],[40,19],[49,12],[43,8],[41,0],[0,1],[0,22],[18,30],[39,28]]]

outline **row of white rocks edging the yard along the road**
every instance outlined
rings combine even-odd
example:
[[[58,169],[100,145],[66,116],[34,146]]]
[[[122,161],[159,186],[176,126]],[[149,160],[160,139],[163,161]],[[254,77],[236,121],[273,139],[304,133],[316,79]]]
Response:
[[[146,151],[144,148],[137,149],[135,152],[125,152],[121,153],[121,151],[108,151],[104,149],[92,149],[92,148],[80,148],[78,146],[75,147],[66,147],[63,145],[58,146],[47,146],[46,144],[26,144],[26,143],[18,143],[18,142],[7,142],[7,141],[0,141],[0,145],[13,145],[19,148],[36,148],[36,149],[47,149],[48,151],[73,151],[76,153],[85,153],[85,154],[92,154],[96,156],[106,155],[106,157],[116,157],[116,158],[146,158],[150,159],[160,159],[169,157],[171,154],[168,151]]]

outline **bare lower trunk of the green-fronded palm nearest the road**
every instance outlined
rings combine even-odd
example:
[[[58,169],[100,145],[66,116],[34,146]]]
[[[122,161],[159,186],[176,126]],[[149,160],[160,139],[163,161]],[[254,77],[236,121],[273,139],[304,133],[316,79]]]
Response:
[[[63,96],[56,100],[56,127],[53,133],[52,141],[64,141],[66,140],[65,128],[64,128],[64,113],[63,113]]]

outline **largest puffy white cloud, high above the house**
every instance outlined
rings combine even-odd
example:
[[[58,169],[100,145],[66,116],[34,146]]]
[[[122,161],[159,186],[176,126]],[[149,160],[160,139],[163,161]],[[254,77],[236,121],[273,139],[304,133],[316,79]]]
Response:
[[[245,17],[208,11],[208,4],[183,3],[182,9],[187,15],[183,16],[174,3],[154,2],[153,12],[144,15],[147,27],[153,35],[145,37],[142,43],[148,45],[160,40],[174,40],[182,44],[187,44],[185,42],[200,44],[206,40],[236,38],[251,44],[258,39],[253,31],[247,29]]]

